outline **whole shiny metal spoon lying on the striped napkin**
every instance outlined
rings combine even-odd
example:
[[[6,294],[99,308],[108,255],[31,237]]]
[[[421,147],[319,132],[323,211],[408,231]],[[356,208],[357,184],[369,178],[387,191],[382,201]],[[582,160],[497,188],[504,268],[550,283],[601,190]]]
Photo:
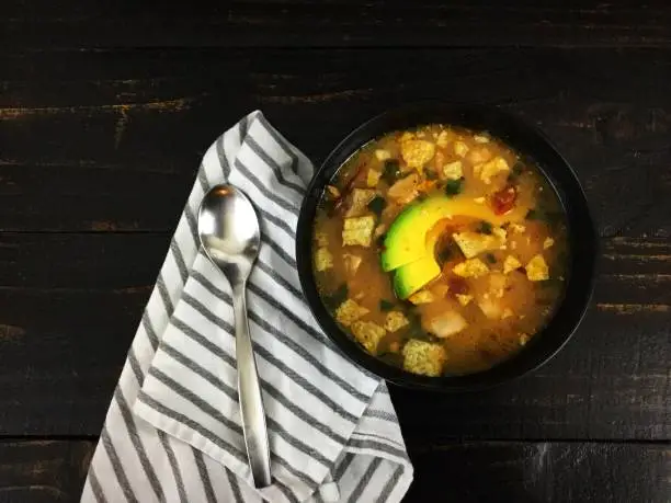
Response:
[[[221,270],[232,289],[242,432],[254,485],[263,488],[271,484],[270,449],[244,300],[247,278],[259,255],[259,219],[240,190],[216,185],[201,203],[198,236],[206,255]]]

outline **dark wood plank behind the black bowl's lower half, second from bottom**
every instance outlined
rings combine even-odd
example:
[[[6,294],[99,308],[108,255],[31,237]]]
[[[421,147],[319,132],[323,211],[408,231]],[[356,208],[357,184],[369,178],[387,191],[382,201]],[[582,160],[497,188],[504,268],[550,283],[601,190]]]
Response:
[[[99,433],[168,242],[0,235],[0,435]],[[670,265],[658,260],[671,244],[615,238],[603,250],[592,309],[547,366],[481,393],[394,388],[408,441],[671,438]]]

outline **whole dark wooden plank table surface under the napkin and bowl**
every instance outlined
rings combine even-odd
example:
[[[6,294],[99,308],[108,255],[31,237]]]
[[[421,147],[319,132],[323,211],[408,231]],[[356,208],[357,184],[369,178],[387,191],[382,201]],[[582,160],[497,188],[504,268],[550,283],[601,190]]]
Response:
[[[509,3],[509,2],[508,2]],[[543,5],[539,5],[543,4]],[[209,142],[261,108],[316,162],[422,99],[543,129],[599,224],[589,315],[468,396],[393,389],[412,502],[671,501],[671,5],[3,0],[0,502],[77,501]]]

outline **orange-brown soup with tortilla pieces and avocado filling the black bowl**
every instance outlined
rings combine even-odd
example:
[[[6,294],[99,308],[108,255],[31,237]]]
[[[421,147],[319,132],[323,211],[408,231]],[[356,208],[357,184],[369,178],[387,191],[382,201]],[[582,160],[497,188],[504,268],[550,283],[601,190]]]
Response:
[[[487,133],[390,133],[327,185],[312,231],[319,295],[362,348],[425,376],[485,370],[561,300],[560,202],[537,167]]]

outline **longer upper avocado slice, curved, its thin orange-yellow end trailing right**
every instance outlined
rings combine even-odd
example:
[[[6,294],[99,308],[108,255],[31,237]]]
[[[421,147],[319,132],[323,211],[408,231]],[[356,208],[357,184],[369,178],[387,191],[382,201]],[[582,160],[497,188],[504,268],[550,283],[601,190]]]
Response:
[[[433,196],[408,206],[389,227],[382,253],[383,271],[394,271],[424,255],[433,259],[433,247],[428,250],[427,233],[439,220],[464,215],[487,220],[494,226],[522,220],[528,208],[516,206],[508,215],[494,215],[489,206],[477,204],[470,197]]]

